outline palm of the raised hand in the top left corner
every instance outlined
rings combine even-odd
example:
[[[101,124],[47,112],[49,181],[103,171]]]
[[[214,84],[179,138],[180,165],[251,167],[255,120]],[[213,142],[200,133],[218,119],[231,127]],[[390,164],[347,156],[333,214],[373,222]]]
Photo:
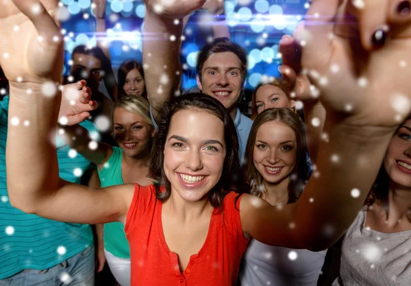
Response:
[[[29,2],[19,0],[16,4],[30,11]],[[46,1],[44,1],[46,2]],[[47,1],[50,7],[55,1]],[[56,4],[56,3],[55,3]],[[0,65],[12,86],[20,86],[21,81],[41,83],[45,79],[60,82],[62,71],[62,40],[57,26],[47,27],[47,32],[39,34],[32,21],[8,3],[8,8],[0,14]],[[53,29],[54,28],[54,29]],[[54,32],[54,33],[53,33]]]

